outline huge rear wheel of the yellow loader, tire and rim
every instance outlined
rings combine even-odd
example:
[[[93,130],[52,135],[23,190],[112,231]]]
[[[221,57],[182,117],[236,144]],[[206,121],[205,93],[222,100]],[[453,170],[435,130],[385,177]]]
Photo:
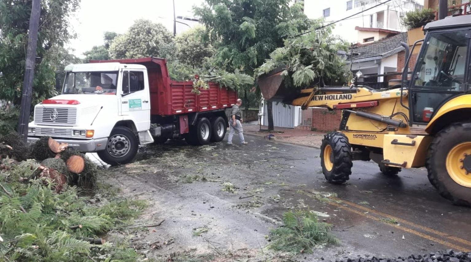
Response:
[[[454,123],[439,131],[425,166],[440,196],[471,206],[471,123]]]

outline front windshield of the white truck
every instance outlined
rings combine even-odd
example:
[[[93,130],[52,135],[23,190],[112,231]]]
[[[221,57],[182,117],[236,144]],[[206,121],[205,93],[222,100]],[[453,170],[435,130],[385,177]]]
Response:
[[[63,94],[116,94],[118,72],[67,72]]]

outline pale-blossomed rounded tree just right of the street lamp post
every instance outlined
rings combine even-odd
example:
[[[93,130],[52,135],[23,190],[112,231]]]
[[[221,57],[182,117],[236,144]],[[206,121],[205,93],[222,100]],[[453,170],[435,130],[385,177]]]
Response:
[[[198,25],[175,37],[175,58],[179,62],[193,68],[201,67],[204,57],[214,54],[215,50],[211,44],[203,41],[205,31],[204,26]]]

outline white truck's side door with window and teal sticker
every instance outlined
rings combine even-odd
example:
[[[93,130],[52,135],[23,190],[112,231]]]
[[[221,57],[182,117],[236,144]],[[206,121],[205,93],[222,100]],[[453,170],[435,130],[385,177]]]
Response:
[[[145,70],[122,71],[121,113],[130,115],[138,131],[150,126],[149,83]]]

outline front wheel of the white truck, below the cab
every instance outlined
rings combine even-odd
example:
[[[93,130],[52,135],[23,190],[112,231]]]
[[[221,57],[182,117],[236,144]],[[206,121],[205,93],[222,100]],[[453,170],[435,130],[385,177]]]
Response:
[[[97,154],[110,165],[128,164],[138,153],[138,144],[138,138],[129,128],[118,126],[111,131],[106,149]]]

